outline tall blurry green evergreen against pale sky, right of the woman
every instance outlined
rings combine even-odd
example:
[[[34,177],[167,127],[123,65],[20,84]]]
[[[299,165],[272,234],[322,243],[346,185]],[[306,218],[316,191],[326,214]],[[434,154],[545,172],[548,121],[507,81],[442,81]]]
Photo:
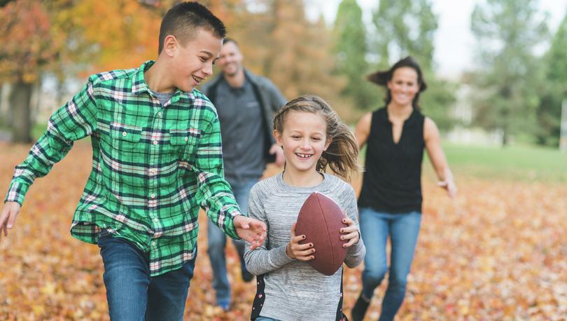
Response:
[[[475,123],[500,130],[503,144],[513,135],[537,132],[540,60],[533,48],[547,39],[545,15],[536,0],[489,0],[471,17],[481,67],[475,77]]]

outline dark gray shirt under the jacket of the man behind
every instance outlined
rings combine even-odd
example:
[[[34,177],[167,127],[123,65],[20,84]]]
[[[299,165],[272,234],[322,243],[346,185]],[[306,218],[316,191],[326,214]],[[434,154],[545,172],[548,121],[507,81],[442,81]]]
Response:
[[[265,169],[262,109],[249,81],[232,88],[221,79],[215,107],[221,122],[225,177],[230,180],[258,179]]]

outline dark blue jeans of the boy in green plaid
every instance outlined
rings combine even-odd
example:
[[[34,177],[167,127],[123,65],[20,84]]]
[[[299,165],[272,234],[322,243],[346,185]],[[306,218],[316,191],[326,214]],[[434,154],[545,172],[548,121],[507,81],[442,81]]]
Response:
[[[132,243],[103,230],[98,244],[111,320],[183,320],[195,259],[152,277],[148,254]]]

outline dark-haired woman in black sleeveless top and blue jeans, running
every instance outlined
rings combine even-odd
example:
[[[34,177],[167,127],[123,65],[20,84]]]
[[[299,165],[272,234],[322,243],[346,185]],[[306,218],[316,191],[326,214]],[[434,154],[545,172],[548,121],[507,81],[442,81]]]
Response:
[[[427,153],[439,186],[456,195],[437,125],[419,111],[419,94],[426,89],[421,68],[412,57],[368,79],[385,86],[386,106],[365,114],[356,125],[358,146],[367,144],[366,171],[358,207],[360,231],[367,248],[363,289],[352,310],[363,320],[374,289],[386,271],[386,242],[391,240],[388,289],[379,320],[393,320],[402,305],[421,223],[421,163]]]

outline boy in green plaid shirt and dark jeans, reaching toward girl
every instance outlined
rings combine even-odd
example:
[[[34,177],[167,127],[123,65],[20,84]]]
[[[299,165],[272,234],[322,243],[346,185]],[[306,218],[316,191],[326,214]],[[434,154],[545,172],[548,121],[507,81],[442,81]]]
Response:
[[[5,236],[25,193],[90,136],[92,172],[71,235],[97,243],[112,320],[182,320],[197,256],[199,207],[256,247],[266,226],[241,215],[223,179],[218,117],[195,86],[211,76],[225,27],[195,2],[162,20],[158,59],[90,76],[15,169],[0,214]]]

